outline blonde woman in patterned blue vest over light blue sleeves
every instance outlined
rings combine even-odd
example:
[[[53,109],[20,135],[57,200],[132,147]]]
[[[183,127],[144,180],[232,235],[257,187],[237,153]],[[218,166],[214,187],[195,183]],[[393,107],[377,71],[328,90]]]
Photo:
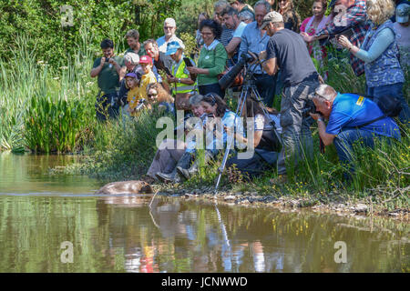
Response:
[[[341,35],[338,43],[364,61],[366,95],[378,103],[384,95],[394,95],[402,105],[399,119],[409,125],[410,109],[403,95],[405,75],[399,63],[395,30],[390,17],[395,14],[392,0],[367,0],[367,17],[372,22],[359,48]]]

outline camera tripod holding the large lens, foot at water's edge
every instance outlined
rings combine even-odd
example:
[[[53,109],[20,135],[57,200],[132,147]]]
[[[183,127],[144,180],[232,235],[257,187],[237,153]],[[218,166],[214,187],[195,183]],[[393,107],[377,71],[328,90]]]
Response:
[[[242,85],[242,88],[241,88],[241,95],[240,95],[240,98],[239,98],[238,106],[236,108],[235,119],[234,119],[233,124],[236,125],[236,119],[241,117],[242,112],[243,112],[243,107],[246,105],[246,99],[251,96],[251,98],[253,100],[259,102],[259,104],[261,105],[261,108],[263,110],[263,115],[265,115],[266,119],[269,120],[269,125],[272,125],[272,130],[273,130],[274,135],[276,135],[276,137],[278,138],[278,140],[282,144],[281,135],[279,135],[278,132],[276,131],[275,122],[273,121],[271,115],[269,114],[269,112],[266,108],[266,105],[263,103],[263,101],[261,99],[261,95],[259,94],[258,88],[256,86],[256,79],[254,77],[254,71],[255,71],[255,68],[258,65],[261,65],[261,62],[258,61],[257,63],[255,63],[253,65],[254,65],[253,67],[250,65],[251,68],[249,70],[246,70],[246,75],[245,75],[245,78],[244,78],[244,81],[243,81],[244,85]],[[222,159],[222,164],[218,168],[218,171],[219,171],[220,174],[218,176],[218,180],[217,180],[216,185],[215,185],[214,194],[216,194],[218,192],[218,187],[220,185],[220,177],[222,176],[223,171],[225,169],[226,162],[227,162],[228,156],[229,156],[229,152],[230,152],[230,149],[231,149],[231,146],[232,146],[232,142],[234,141],[234,138],[235,138],[234,136],[235,136],[234,133],[231,134],[230,136],[228,136],[228,142],[227,142],[227,146],[226,146],[226,149],[225,149],[225,154],[224,154],[223,159]]]

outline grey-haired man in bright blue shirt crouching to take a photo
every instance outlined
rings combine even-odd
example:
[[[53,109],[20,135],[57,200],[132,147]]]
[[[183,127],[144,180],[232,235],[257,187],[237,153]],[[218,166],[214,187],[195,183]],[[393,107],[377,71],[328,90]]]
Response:
[[[319,85],[313,96],[316,111],[311,113],[317,121],[319,135],[324,146],[332,143],[336,147],[339,160],[354,168],[353,148],[355,142],[362,141],[364,146],[374,147],[374,139],[395,137],[400,140],[400,130],[395,121],[382,112],[378,105],[364,96],[339,94],[330,85]],[[323,117],[328,119],[327,126]],[[345,175],[350,179],[350,175]]]

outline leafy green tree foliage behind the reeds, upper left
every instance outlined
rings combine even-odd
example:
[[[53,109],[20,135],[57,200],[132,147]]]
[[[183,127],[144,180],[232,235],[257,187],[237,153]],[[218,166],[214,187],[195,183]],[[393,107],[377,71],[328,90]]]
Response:
[[[72,8],[62,12],[63,5]],[[181,0],[0,0],[0,58],[14,57],[15,35],[27,35],[39,60],[55,66],[67,64],[79,49],[98,52],[107,37],[122,51],[128,29],[138,29],[142,40],[158,36],[162,21],[180,5]],[[70,11],[72,22],[67,24]],[[89,44],[78,47],[84,38]]]

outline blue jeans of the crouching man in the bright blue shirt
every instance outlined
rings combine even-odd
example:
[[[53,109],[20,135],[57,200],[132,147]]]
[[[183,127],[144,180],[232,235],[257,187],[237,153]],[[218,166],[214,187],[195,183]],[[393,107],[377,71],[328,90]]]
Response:
[[[349,167],[349,172],[344,174],[344,178],[351,179],[351,174],[354,173],[354,166],[352,161],[354,160],[353,156],[353,145],[357,141],[363,142],[363,146],[374,148],[374,139],[387,138],[382,135],[375,135],[370,131],[363,129],[346,129],[343,130],[340,134],[336,135],[333,140],[333,144],[336,147],[337,156],[341,164]]]

